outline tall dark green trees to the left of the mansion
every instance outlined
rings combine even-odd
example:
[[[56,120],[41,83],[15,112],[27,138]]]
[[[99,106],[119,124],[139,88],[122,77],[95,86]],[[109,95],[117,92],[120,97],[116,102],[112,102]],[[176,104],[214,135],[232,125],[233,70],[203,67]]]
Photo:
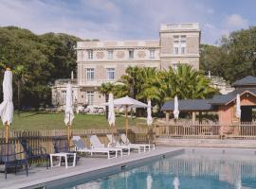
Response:
[[[0,27],[0,62],[13,71],[15,107],[51,103],[54,80],[76,70],[77,41],[81,39],[66,34],[35,35],[15,26]]]

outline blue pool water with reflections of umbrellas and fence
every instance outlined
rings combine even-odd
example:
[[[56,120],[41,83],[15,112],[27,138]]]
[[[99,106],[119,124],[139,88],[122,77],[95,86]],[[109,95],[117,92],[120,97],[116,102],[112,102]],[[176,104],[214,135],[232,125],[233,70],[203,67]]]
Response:
[[[256,188],[256,155],[189,151],[131,170],[62,188],[91,189],[243,189]]]

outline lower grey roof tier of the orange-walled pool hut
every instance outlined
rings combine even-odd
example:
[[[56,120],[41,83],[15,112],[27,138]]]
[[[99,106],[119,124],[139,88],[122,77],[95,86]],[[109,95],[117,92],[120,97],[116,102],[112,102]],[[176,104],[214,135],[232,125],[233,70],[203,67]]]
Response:
[[[256,88],[238,88],[229,94],[214,95],[213,98],[209,100],[209,103],[212,105],[229,104],[229,102],[236,99],[237,94],[244,94],[246,92],[255,95]]]

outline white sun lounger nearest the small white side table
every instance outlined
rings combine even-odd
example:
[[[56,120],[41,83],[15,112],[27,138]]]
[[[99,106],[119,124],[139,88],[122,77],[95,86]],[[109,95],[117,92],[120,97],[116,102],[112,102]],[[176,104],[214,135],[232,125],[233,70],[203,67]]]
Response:
[[[90,153],[91,156],[93,155],[93,153],[103,153],[103,154],[107,154],[107,159],[111,158],[110,156],[111,150],[102,149],[102,148],[88,148],[85,146],[80,136],[73,136],[73,142],[77,152]],[[116,151],[115,157],[118,157],[118,151]]]

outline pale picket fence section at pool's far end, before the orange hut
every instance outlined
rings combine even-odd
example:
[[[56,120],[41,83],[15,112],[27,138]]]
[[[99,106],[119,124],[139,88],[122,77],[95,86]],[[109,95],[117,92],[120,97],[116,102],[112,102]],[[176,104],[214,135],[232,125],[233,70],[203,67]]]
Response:
[[[256,139],[256,122],[225,126],[218,123],[175,122],[169,125],[156,125],[155,137]]]

